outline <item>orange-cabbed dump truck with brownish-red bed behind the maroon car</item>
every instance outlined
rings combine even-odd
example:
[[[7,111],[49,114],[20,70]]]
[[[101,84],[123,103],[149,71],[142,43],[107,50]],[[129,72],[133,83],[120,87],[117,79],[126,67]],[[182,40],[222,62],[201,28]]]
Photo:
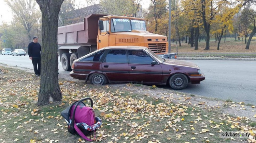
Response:
[[[65,71],[74,60],[107,46],[144,46],[162,58],[168,53],[166,36],[146,31],[145,20],[128,16],[90,14],[84,22],[58,28],[60,61]]]

